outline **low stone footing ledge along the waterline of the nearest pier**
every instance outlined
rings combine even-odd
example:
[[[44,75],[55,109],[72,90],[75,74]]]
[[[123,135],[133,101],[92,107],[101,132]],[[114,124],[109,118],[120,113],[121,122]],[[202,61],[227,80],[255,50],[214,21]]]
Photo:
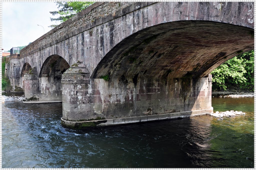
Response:
[[[210,109],[193,110],[193,111],[185,111],[185,112],[164,113],[164,114],[155,114],[155,115],[147,115],[147,116],[80,121],[80,122],[68,121],[61,118],[61,125],[67,128],[72,128],[72,129],[92,129],[92,128],[101,127],[101,126],[115,126],[115,125],[146,122],[146,121],[189,118],[193,116],[206,115],[211,113],[213,113],[212,107]]]

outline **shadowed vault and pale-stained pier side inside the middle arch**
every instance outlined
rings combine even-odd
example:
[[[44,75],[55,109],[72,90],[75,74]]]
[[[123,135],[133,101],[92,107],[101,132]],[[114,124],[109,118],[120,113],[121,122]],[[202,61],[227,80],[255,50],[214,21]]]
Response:
[[[52,102],[62,100],[61,76],[69,67],[68,62],[59,55],[51,55],[44,61],[38,77],[40,99]]]

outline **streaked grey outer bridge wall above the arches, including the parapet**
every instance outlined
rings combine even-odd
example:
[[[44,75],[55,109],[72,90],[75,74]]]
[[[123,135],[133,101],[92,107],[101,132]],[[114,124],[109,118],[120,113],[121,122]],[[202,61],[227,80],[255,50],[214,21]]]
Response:
[[[34,62],[37,58],[42,62],[59,54],[70,65],[82,61],[91,76],[112,48],[140,30],[192,20],[254,28],[253,12],[253,2],[94,3],[25,47],[21,58],[31,57]]]

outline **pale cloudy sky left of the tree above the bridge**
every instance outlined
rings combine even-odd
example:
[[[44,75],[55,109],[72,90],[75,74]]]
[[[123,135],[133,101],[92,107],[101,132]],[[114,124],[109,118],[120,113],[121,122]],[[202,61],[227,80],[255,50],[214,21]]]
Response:
[[[2,49],[25,46],[51,30],[49,12],[58,10],[54,2],[3,2],[2,3]],[[41,26],[44,27],[44,29]]]

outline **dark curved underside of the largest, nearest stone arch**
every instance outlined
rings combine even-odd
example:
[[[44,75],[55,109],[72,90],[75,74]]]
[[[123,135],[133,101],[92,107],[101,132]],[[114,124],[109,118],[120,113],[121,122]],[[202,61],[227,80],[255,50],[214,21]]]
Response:
[[[252,50],[252,28],[201,20],[158,24],[113,47],[91,78],[207,77],[223,62]]]

